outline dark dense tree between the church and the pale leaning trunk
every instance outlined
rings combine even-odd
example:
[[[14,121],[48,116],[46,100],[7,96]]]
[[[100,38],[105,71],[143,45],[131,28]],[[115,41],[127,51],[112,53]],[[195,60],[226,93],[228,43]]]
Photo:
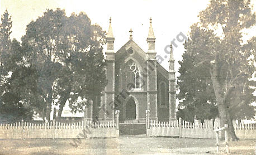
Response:
[[[195,116],[200,120],[217,117],[215,94],[208,70],[203,67],[191,69],[195,61],[188,52],[183,54],[183,62],[179,61],[179,64],[181,76],[177,81],[180,90],[177,98],[181,102],[177,112],[178,117],[190,122],[194,121]]]

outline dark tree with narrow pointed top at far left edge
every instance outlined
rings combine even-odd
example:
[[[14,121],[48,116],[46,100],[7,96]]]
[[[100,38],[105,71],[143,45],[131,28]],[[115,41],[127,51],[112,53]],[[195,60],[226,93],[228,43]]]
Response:
[[[23,64],[20,43],[11,41],[12,21],[4,12],[0,26],[0,120],[14,121],[32,118],[32,108],[23,99],[28,67]]]

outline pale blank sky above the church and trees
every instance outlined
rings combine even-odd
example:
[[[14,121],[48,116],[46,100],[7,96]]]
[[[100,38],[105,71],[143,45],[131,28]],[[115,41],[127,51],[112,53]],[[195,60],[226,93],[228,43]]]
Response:
[[[189,27],[198,22],[198,13],[209,4],[208,0],[179,0],[179,1],[84,1],[84,0],[0,0],[3,14],[5,9],[12,16],[11,38],[20,40],[26,33],[26,25],[32,20],[42,16],[47,8],[65,9],[67,16],[72,12],[86,12],[92,23],[97,23],[103,30],[108,29],[108,19],[112,18],[113,34],[115,36],[114,50],[118,51],[128,40],[129,30],[132,28],[133,40],[146,52],[146,37],[149,30],[149,18],[152,17],[152,25],[155,33],[157,55],[163,58],[167,54],[164,47],[170,44],[178,33],[188,35]],[[256,0],[252,0],[256,6]],[[256,11],[254,7],[254,11]],[[256,31],[250,31],[249,36],[256,35]],[[176,71],[178,60],[182,60],[184,46],[176,42],[178,47],[174,49]],[[162,66],[168,69],[168,59],[162,62]],[[178,75],[178,74],[177,74]]]

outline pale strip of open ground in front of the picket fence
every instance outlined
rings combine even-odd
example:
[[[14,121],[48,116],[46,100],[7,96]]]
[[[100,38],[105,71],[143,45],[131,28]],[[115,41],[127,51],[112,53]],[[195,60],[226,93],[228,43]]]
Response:
[[[124,136],[82,139],[78,147],[72,139],[1,139],[0,154],[215,154],[215,139]],[[255,154],[256,139],[230,142],[231,154]],[[221,143],[221,154],[225,154]],[[207,152],[207,153],[206,153]]]

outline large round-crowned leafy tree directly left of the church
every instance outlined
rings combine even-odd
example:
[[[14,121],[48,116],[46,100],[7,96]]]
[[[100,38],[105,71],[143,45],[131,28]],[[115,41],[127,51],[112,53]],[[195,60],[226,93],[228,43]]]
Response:
[[[27,26],[22,45],[36,69],[34,98],[47,119],[53,104],[60,105],[61,117],[67,100],[74,112],[83,111],[86,102],[79,100],[92,99],[106,86],[104,43],[105,32],[83,12],[67,17],[64,10],[48,9]]]

